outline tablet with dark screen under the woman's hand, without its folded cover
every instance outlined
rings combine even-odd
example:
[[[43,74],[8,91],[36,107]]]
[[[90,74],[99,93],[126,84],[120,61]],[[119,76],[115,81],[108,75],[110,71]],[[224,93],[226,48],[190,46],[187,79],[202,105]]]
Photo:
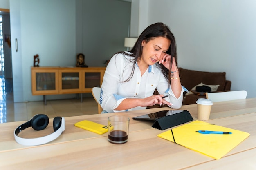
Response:
[[[160,117],[173,115],[173,114],[176,114],[176,113],[181,113],[183,111],[186,111],[186,110],[163,110],[163,111],[159,111],[159,112],[155,112],[155,113],[149,113],[149,114],[142,115],[142,116],[132,117],[132,119],[134,119],[134,120],[152,120],[152,121],[155,121],[156,119],[158,119]]]

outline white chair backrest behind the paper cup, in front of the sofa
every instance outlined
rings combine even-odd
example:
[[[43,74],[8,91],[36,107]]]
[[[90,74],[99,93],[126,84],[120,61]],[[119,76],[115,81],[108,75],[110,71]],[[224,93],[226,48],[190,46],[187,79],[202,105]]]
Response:
[[[225,91],[225,92],[206,92],[207,99],[212,102],[222,102],[228,100],[245,99],[247,91]]]

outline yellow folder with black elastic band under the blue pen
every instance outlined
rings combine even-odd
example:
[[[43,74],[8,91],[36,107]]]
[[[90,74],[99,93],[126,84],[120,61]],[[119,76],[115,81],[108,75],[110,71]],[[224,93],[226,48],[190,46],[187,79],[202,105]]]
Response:
[[[232,132],[232,134],[201,134],[195,132],[198,130]],[[247,132],[196,120],[157,136],[214,159],[220,159],[249,135]]]

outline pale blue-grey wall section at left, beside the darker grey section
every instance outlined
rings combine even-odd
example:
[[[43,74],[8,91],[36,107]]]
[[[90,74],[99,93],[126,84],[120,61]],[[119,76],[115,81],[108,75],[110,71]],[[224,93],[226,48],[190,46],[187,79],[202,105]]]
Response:
[[[33,0],[32,3],[31,0],[22,0],[17,1],[19,5],[16,7],[16,1],[13,1],[10,1],[11,39],[12,44],[15,44],[14,39],[19,37],[18,51],[21,53],[16,56],[15,50],[12,51],[14,102],[42,100],[42,96],[32,96],[31,93],[31,66],[34,64],[34,55],[39,55],[39,66],[70,66],[74,63],[76,3],[75,0]],[[12,29],[16,28],[13,19],[18,19],[14,15],[16,10],[19,10],[20,17],[20,29],[16,32],[20,32],[20,35]],[[13,45],[12,49],[14,48]],[[17,60],[20,62],[17,63]],[[20,81],[16,81],[17,79]],[[54,97],[47,96],[48,99],[64,96]]]

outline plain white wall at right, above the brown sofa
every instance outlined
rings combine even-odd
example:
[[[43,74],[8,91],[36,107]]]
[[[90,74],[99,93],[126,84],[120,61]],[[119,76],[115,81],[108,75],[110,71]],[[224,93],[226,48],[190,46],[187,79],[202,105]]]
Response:
[[[226,72],[231,90],[256,97],[255,0],[148,0],[146,6],[148,25],[164,22],[175,35],[180,67]]]

